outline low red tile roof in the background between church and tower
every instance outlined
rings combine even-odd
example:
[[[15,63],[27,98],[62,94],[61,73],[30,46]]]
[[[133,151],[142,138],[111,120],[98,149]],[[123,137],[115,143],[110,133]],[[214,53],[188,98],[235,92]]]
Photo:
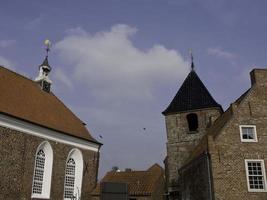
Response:
[[[160,178],[163,178],[163,175],[162,167],[154,164],[147,171],[110,171],[101,182],[127,183],[129,195],[151,195],[155,191]],[[100,184],[98,183],[91,192],[91,195],[98,196],[99,194]]]

